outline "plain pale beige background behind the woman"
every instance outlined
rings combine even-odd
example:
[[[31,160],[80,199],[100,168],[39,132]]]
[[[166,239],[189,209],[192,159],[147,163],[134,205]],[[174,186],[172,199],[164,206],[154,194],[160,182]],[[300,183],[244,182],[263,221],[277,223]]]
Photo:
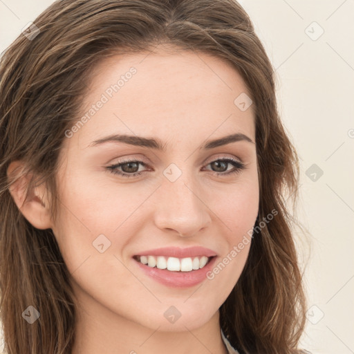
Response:
[[[0,0],[0,51],[52,2]],[[240,2],[277,68],[279,111],[301,157],[302,344],[354,353],[354,1]]]

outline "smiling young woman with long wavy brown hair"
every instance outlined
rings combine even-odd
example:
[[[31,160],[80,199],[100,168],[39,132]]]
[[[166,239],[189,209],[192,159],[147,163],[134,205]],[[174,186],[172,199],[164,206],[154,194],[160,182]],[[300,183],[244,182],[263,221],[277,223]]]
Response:
[[[304,353],[297,154],[236,1],[57,1],[0,97],[8,353]]]

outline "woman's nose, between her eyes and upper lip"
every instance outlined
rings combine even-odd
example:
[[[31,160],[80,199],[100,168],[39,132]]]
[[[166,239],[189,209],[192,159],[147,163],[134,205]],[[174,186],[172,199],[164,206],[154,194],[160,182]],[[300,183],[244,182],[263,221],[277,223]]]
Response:
[[[154,214],[156,226],[180,236],[194,236],[212,221],[210,209],[203,201],[203,190],[187,178],[165,180],[158,189]]]

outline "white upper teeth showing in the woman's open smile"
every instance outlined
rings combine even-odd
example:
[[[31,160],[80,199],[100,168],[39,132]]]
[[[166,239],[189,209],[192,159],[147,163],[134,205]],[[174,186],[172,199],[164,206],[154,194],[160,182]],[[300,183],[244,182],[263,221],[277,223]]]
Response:
[[[172,271],[190,272],[191,270],[198,270],[203,268],[209,257],[188,257],[188,258],[176,258],[176,257],[164,257],[164,256],[140,256],[138,260],[142,264],[146,264],[151,268],[167,269]]]

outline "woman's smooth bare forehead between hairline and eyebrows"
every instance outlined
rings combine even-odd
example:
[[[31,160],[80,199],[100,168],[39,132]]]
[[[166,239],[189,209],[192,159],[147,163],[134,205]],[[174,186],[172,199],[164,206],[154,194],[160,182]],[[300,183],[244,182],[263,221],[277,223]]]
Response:
[[[90,117],[71,140],[84,148],[113,132],[191,141],[241,132],[254,139],[253,107],[241,111],[240,95],[250,93],[239,72],[207,53],[158,48],[115,55],[91,72],[81,112]]]

